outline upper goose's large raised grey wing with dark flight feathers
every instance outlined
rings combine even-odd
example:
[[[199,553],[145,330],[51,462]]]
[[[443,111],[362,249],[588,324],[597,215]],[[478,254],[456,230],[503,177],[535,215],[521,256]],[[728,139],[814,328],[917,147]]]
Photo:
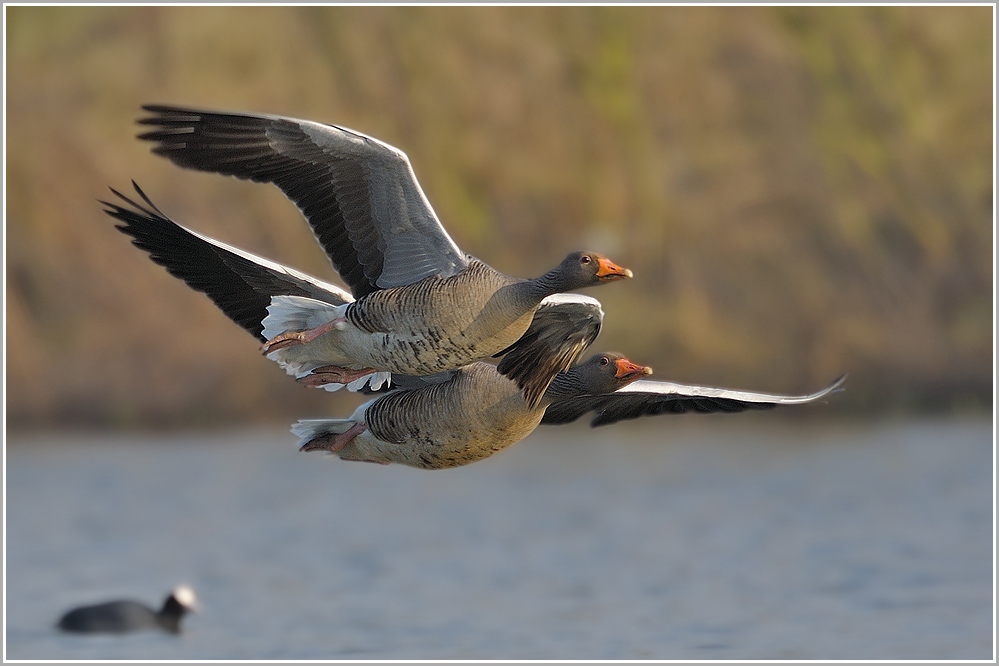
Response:
[[[355,298],[468,265],[405,153],[359,132],[265,114],[144,106],[140,134],[189,169],[274,183],[295,202]]]

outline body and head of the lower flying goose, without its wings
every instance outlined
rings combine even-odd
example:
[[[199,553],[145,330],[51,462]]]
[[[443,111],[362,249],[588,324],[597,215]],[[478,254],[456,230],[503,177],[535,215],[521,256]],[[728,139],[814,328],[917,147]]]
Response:
[[[527,437],[549,405],[610,393],[651,372],[620,354],[596,354],[556,375],[532,407],[495,366],[477,362],[412,378],[423,386],[389,391],[348,419],[303,419],[291,430],[301,438],[302,451],[329,451],[342,460],[458,467]]]

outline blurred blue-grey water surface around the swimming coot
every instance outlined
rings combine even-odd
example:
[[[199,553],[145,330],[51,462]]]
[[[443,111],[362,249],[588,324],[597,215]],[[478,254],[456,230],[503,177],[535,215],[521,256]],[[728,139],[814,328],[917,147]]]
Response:
[[[992,659],[989,422],[544,428],[428,472],[284,432],[12,438],[10,659]],[[62,635],[194,587],[180,637]]]

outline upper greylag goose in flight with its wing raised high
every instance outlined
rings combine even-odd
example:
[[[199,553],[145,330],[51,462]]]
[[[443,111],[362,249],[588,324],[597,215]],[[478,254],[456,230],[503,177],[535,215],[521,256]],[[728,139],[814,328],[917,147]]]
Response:
[[[330,381],[376,370],[428,375],[503,353],[500,373],[537,405],[580,352],[551,336],[521,339],[538,305],[631,277],[593,252],[572,253],[533,280],[497,272],[457,247],[405,153],[359,132],[265,114],[143,108],[152,115],[139,123],[156,129],[139,138],[155,142],[154,153],[273,183],[308,220],[357,300],[320,325],[279,333],[265,350],[323,367]]]

